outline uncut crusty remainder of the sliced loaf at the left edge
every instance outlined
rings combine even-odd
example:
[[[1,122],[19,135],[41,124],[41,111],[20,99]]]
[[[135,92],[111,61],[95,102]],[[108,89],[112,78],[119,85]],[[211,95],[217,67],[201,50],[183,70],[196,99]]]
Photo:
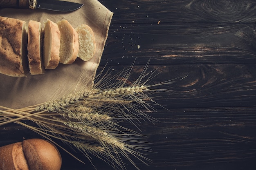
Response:
[[[0,17],[0,73],[24,77],[27,68],[26,22]]]

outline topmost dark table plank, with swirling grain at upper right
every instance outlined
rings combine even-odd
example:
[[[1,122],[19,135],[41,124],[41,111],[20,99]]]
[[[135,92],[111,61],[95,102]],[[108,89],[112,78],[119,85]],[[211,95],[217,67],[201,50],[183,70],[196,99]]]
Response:
[[[254,23],[254,0],[109,0],[113,23]]]

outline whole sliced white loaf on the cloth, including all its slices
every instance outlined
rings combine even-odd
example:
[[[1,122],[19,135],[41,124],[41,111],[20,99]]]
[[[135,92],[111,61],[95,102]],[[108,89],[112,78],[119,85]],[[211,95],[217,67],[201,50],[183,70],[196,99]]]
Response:
[[[42,30],[37,21],[26,24],[0,17],[0,44],[0,73],[13,77],[25,76],[29,69],[31,75],[43,74],[59,62],[72,64],[76,57],[88,61],[96,51],[90,26],[81,24],[74,29],[67,20],[56,24],[47,19]]]

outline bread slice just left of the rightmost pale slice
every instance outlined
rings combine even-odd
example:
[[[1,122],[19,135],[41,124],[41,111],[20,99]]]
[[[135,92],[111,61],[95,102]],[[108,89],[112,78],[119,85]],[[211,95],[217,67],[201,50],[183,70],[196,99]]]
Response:
[[[57,22],[61,31],[60,62],[72,64],[79,50],[78,34],[67,20]]]

